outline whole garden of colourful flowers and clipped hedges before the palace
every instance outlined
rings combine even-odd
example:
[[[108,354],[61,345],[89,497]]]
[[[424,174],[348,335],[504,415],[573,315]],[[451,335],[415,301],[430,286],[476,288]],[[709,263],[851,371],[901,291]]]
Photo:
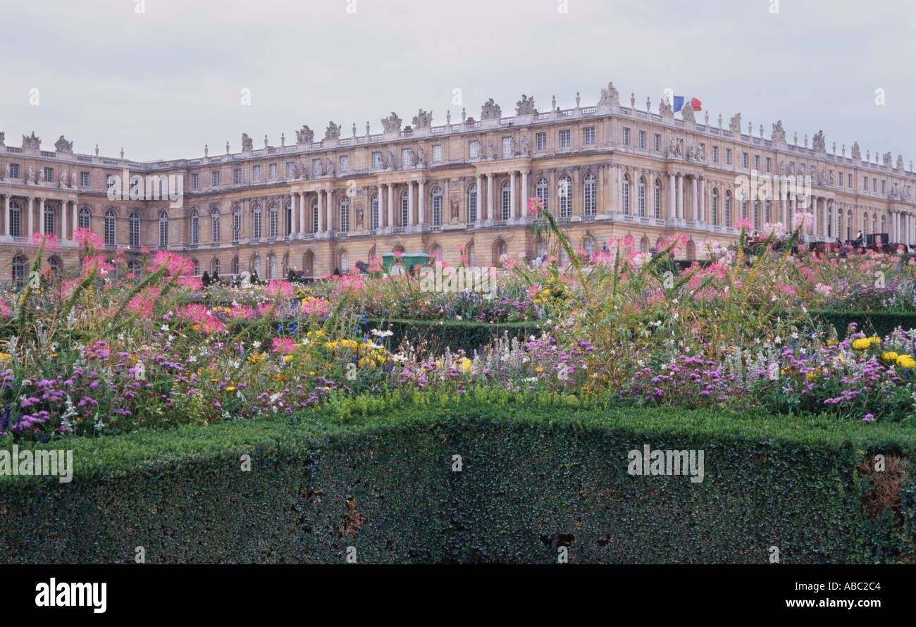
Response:
[[[5,560],[916,559],[913,254],[813,249],[806,213],[703,262],[682,235],[587,254],[529,211],[546,263],[482,290],[440,259],[135,275],[88,229],[60,275],[38,235],[0,294],[0,449],[72,450],[73,478],[0,463]],[[705,479],[627,472],[644,444]]]

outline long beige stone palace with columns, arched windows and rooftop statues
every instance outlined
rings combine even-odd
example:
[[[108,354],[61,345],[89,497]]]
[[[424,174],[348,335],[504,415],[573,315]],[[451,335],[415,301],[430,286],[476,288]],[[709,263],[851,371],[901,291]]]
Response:
[[[700,122],[689,105],[678,117],[665,101],[657,114],[632,96],[623,106],[613,84],[595,106],[579,100],[540,112],[522,96],[504,117],[491,99],[479,120],[462,114],[453,124],[449,114],[438,126],[422,110],[409,126],[392,113],[379,134],[366,123],[357,135],[354,124],[346,137],[331,123],[315,141],[303,126],[289,146],[285,136],[279,146],[265,137],[255,149],[243,135],[238,153],[227,143],[220,156],[205,149],[202,158],[143,163],[123,151],[100,157],[97,146],[94,155],[74,153],[63,136],[54,150],[34,133],[5,146],[0,133],[0,280],[26,275],[35,232],[57,237],[50,265],[78,265],[78,227],[132,264],[141,248],[167,248],[193,259],[199,274],[322,276],[393,250],[439,253],[452,265],[463,252],[469,265],[500,265],[503,254],[544,252],[529,228],[532,196],[589,252],[627,235],[648,251],[682,233],[681,256],[703,258],[706,243],[735,241],[737,220],[762,228],[791,222],[802,207],[814,214],[814,240],[888,232],[892,242],[916,243],[916,176],[900,156],[863,159],[857,144],[838,155],[823,133],[800,145],[781,122],[767,138],[763,124],[757,134],[752,124],[743,129],[740,114],[724,128],[721,115]],[[748,180],[769,178],[804,178],[806,192],[778,183],[770,196],[747,197]]]

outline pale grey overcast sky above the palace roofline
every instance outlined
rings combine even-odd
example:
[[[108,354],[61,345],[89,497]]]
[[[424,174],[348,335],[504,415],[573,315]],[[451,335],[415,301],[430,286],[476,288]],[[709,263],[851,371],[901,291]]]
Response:
[[[515,113],[662,92],[696,97],[716,124],[781,119],[799,143],[857,141],[916,160],[916,0],[0,0],[0,131],[53,149],[155,160],[295,143],[329,120],[380,133],[395,111],[461,120],[494,98]],[[352,13],[355,8],[355,12]],[[349,9],[349,10],[348,10]],[[38,105],[30,90],[38,89]],[[241,91],[251,91],[251,104]],[[876,104],[875,92],[885,93]],[[697,114],[703,120],[703,114]]]

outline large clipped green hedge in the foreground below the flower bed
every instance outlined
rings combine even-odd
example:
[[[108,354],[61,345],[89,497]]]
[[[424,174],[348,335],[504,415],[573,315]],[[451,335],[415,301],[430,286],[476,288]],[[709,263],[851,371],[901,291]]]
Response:
[[[630,476],[644,444],[703,449],[704,481]],[[578,563],[766,563],[769,546],[784,563],[894,562],[914,551],[913,482],[901,513],[873,518],[855,469],[914,444],[826,417],[356,401],[74,442],[71,483],[0,477],[0,560],[132,562],[143,546],[149,563],[342,563],[354,546],[360,563],[555,563],[562,545]]]

